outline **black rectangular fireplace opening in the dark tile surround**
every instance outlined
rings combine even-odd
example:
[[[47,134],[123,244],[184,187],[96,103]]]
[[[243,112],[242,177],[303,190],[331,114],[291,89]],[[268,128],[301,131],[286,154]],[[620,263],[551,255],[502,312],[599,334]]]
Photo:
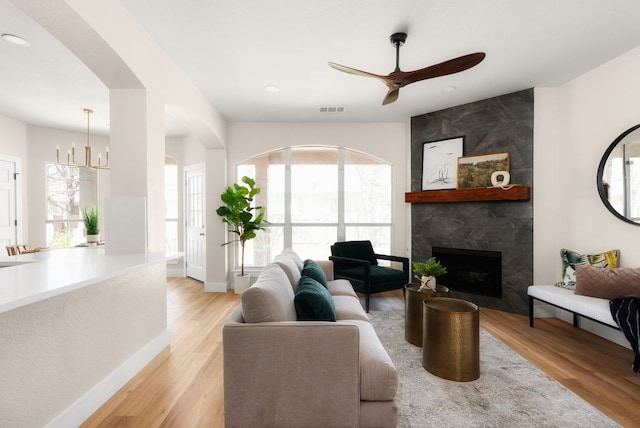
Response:
[[[500,251],[433,247],[432,255],[447,268],[447,273],[438,277],[439,284],[453,291],[502,297]]]

